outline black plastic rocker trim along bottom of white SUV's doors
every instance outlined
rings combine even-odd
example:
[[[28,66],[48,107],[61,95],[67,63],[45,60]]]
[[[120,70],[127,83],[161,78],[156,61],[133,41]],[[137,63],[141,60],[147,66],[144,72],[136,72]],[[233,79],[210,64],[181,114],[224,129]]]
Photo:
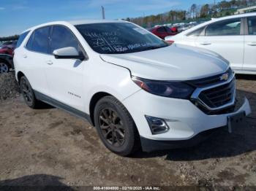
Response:
[[[60,101],[56,101],[55,99],[50,98],[48,95],[39,93],[36,90],[34,90],[34,94],[36,95],[36,98],[38,100],[45,102],[46,104],[50,104],[51,106],[55,106],[56,108],[63,109],[66,112],[69,112],[69,114],[73,114],[76,117],[80,117],[83,120],[88,121],[92,126],[94,126],[93,123],[91,122],[91,117],[89,114],[81,112],[78,109],[72,108],[71,106],[67,106],[67,104],[63,104]]]

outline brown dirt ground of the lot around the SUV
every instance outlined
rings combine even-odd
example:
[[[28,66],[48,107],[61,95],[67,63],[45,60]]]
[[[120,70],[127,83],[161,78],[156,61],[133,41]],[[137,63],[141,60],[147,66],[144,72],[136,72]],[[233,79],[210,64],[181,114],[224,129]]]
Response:
[[[256,78],[238,78],[239,98],[252,106],[244,127],[132,157],[109,152],[89,123],[59,109],[29,109],[21,96],[0,101],[0,186],[256,186]]]

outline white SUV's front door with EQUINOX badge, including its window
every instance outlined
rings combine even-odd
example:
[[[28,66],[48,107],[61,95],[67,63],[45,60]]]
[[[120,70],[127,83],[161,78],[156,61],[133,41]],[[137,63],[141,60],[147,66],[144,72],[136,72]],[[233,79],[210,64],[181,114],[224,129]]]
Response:
[[[53,26],[50,35],[50,58],[46,76],[50,97],[72,108],[83,111],[83,71],[86,61],[56,59],[53,51],[75,47],[83,52],[78,39],[65,26]]]

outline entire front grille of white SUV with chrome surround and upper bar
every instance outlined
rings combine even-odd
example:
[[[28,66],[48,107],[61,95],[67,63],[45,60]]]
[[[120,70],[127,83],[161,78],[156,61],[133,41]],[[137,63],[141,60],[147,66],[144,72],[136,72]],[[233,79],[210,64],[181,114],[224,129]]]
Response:
[[[223,74],[204,79],[189,81],[196,87],[191,101],[206,114],[226,114],[235,109],[236,79],[233,71],[228,69],[228,79],[222,79]]]

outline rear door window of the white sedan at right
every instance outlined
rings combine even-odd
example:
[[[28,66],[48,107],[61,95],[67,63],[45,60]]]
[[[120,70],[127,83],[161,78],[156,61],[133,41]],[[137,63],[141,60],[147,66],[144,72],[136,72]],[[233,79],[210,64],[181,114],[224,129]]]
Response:
[[[240,35],[241,18],[223,20],[213,23],[206,28],[206,36]]]

